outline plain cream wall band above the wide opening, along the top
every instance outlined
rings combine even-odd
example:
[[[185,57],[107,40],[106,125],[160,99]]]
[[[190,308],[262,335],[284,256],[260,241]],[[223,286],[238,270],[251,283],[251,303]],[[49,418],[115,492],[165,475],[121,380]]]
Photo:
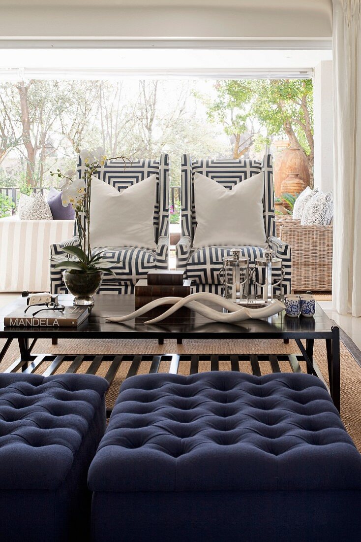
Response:
[[[0,36],[330,38],[332,0],[0,0]]]

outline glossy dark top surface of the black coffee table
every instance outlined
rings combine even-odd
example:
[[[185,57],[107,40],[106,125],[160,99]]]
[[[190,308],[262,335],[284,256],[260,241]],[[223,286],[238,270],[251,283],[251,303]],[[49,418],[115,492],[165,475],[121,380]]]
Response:
[[[72,305],[73,296],[60,295],[59,302]],[[285,312],[262,320],[245,320],[239,324],[214,322],[189,309],[182,309],[158,324],[145,324],[149,315],[122,324],[107,322],[110,316],[123,316],[134,311],[134,295],[102,294],[95,296],[95,304],[89,318],[78,327],[4,327],[3,318],[26,298],[17,298],[0,310],[0,337],[17,338],[24,334],[37,338],[331,338],[333,322],[316,303],[316,314],[312,318],[290,318]],[[207,304],[216,310],[219,306]]]

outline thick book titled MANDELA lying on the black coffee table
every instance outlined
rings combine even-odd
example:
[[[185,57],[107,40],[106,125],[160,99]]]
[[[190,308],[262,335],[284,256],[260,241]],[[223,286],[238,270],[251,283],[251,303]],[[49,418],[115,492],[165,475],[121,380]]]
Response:
[[[77,327],[88,318],[88,307],[65,307],[63,312],[47,309],[32,316],[19,307],[4,318],[5,327]],[[36,307],[34,306],[34,312]],[[30,313],[30,314],[29,314]]]

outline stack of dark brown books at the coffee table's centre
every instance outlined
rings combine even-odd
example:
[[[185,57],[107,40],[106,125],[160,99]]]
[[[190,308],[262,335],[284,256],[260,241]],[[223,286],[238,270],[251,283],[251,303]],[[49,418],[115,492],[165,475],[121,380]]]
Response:
[[[191,280],[183,280],[183,271],[149,271],[147,279],[137,281],[134,293],[137,309],[155,299],[185,298],[191,294]]]

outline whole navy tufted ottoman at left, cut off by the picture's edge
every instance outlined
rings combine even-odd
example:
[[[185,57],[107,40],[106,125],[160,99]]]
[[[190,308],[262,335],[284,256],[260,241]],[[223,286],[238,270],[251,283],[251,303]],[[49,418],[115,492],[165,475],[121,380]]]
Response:
[[[0,374],[0,539],[86,540],[87,473],[108,384],[90,375]]]

